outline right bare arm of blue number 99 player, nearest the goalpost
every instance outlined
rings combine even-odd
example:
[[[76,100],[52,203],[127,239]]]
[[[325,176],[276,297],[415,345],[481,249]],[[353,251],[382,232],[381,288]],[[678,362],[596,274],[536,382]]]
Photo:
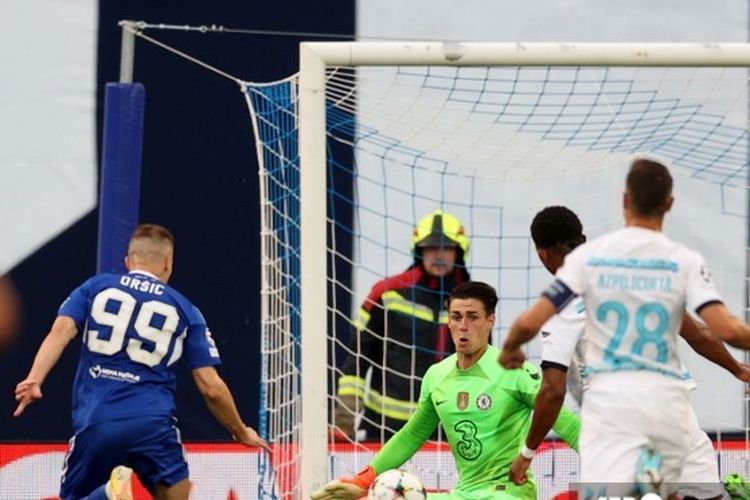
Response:
[[[271,452],[268,443],[258,436],[255,429],[246,426],[242,421],[232,393],[229,392],[227,384],[219,376],[216,368],[213,366],[196,368],[193,370],[193,379],[206,400],[208,409],[237,442],[245,446],[260,446],[269,453]]]

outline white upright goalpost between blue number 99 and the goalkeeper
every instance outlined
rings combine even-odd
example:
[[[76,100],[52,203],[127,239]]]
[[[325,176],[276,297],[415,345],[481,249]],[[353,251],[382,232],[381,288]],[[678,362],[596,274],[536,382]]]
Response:
[[[299,157],[302,304],[302,495],[328,482],[325,65],[300,44]]]

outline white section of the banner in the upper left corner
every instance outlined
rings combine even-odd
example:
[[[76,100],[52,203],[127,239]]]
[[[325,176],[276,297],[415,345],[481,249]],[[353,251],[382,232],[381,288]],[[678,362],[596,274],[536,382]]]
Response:
[[[96,205],[97,0],[4,0],[0,274]]]

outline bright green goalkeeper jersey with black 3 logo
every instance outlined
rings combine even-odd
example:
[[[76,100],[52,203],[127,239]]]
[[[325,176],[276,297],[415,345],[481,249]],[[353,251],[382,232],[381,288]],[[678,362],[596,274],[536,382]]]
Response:
[[[489,346],[479,361],[462,370],[454,354],[432,365],[422,381],[417,410],[383,446],[370,464],[379,474],[409,460],[442,424],[458,468],[453,498],[536,498],[536,485],[514,485],[510,466],[524,445],[534,400],[541,385],[539,369],[526,362],[506,370],[500,350]],[[566,408],[555,432],[578,449],[580,420]]]

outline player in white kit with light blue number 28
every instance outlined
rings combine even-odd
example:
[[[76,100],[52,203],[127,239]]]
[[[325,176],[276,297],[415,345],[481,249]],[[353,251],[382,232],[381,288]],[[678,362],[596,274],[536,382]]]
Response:
[[[666,167],[635,160],[623,202],[626,227],[572,251],[553,284],[516,319],[503,347],[501,362],[514,365],[524,359],[524,342],[583,299],[581,483],[601,485],[597,494],[637,493],[644,457],[659,469],[658,492],[676,493],[693,413],[677,354],[686,308],[721,339],[750,348],[750,327],[728,313],[703,257],[661,233],[671,191]]]

